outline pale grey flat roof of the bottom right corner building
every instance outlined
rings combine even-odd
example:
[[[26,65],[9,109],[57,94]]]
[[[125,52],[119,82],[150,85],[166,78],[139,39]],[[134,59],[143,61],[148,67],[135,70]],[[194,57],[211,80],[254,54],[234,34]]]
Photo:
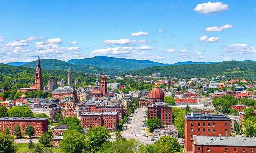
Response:
[[[195,145],[202,146],[237,146],[237,147],[256,147],[255,137],[226,137],[222,136],[193,136]]]

